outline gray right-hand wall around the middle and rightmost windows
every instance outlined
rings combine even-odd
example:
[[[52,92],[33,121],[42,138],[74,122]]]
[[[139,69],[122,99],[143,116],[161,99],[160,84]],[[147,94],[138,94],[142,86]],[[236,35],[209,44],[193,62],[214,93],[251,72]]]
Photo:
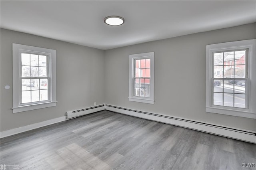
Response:
[[[256,38],[256,24],[105,51],[104,101],[111,105],[256,130],[256,120],[206,113],[206,45]],[[155,52],[155,104],[128,101],[129,55]]]

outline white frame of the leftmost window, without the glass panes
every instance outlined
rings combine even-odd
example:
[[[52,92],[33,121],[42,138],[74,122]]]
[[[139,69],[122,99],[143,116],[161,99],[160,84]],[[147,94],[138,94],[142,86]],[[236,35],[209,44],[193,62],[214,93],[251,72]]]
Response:
[[[21,103],[21,53],[38,53],[48,56],[49,89],[47,101]],[[13,113],[56,106],[56,50],[12,43]]]

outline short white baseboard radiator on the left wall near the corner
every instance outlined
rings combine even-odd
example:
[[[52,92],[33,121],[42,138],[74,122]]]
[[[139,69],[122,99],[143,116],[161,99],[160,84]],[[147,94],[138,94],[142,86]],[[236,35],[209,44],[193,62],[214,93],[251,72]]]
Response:
[[[103,111],[103,110],[105,110],[105,105],[98,105],[98,106],[88,107],[85,109],[79,109],[76,111],[68,111],[66,112],[66,116],[67,116],[67,119],[73,119],[75,117],[80,117],[83,115],[88,115],[90,113]]]

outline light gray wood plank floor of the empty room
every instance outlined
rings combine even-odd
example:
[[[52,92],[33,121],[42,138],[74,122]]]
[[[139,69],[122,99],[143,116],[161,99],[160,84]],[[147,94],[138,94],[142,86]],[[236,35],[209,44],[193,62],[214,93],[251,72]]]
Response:
[[[0,150],[0,164],[25,170],[250,170],[242,163],[256,163],[255,144],[110,111],[2,138]]]

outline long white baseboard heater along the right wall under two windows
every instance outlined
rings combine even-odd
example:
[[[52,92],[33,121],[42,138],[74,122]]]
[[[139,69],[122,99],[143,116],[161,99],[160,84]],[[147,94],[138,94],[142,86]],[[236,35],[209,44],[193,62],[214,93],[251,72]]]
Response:
[[[116,107],[112,105],[105,105],[106,110],[113,111],[117,113],[122,113],[125,115],[130,115],[134,117],[140,117],[143,119],[148,119],[152,121],[157,121],[161,123],[167,123],[170,125],[176,125],[179,127],[185,127],[190,128],[202,132],[207,132],[211,134],[216,134],[219,136],[225,136],[228,138],[234,138],[246,142],[256,143],[256,136],[255,133],[249,130],[238,130],[234,128],[227,128],[227,127],[220,127],[216,125],[210,125],[206,123],[200,123],[185,119],[178,119],[174,117],[170,117],[167,115],[157,115],[154,113],[146,113],[142,111],[136,111],[132,109],[122,108],[122,107]]]

